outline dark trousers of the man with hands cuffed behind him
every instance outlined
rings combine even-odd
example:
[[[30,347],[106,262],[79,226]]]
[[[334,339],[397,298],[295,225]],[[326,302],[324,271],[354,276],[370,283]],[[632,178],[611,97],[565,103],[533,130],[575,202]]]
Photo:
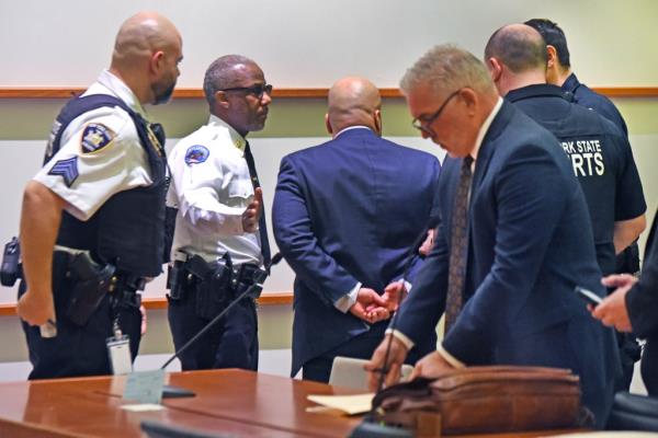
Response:
[[[371,326],[371,330],[354,336],[350,341],[330,349],[321,356],[308,360],[302,367],[302,379],[314,380],[317,382],[327,383],[331,376],[331,367],[333,359],[337,356],[353,357],[356,359],[370,359],[373,356],[375,348],[384,338],[384,334],[390,321],[381,321]],[[406,364],[413,365],[424,355],[436,349],[436,338],[429,336],[428,339],[433,342],[423,343],[413,347],[407,355]]]

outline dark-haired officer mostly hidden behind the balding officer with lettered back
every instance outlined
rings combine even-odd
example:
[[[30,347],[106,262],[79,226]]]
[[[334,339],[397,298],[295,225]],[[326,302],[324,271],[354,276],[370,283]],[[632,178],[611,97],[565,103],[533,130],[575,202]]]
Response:
[[[524,24],[536,30],[546,42],[548,57],[546,64],[547,82],[561,87],[564,91],[571,93],[575,103],[594,110],[611,120],[624,132],[624,136],[628,137],[626,122],[612,101],[580,82],[576,73],[571,71],[569,48],[564,31],[556,23],[546,19],[532,19]],[[615,272],[636,274],[638,270],[639,249],[637,241],[635,241],[617,254]]]

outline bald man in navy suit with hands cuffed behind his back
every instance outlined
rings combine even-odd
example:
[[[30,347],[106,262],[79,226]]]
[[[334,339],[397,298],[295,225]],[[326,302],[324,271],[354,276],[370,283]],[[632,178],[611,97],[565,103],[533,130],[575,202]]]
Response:
[[[368,358],[420,263],[412,246],[427,232],[439,161],[381,138],[381,102],[365,79],[338,81],[332,139],[281,161],[272,222],[296,275],[292,374],[303,368],[304,379],[327,382],[336,356]],[[435,333],[417,344],[419,355],[433,350]]]

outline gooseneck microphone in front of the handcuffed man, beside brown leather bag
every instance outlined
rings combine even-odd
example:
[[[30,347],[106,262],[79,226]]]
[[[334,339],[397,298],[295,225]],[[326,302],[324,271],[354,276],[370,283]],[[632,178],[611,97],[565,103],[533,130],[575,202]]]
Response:
[[[411,267],[413,266],[413,260],[416,258],[416,254],[422,242],[427,239],[428,231],[434,229],[435,220],[434,218],[430,218],[430,222],[426,229],[423,229],[422,233],[416,238],[413,244],[409,246],[409,253],[407,254],[407,263],[405,266],[405,273],[402,274],[401,281],[405,281],[411,272]],[[402,293],[398,296],[397,300],[397,310],[393,315],[390,321],[390,325],[388,326],[392,332],[395,332],[395,327],[397,325],[399,307],[402,302]],[[377,393],[382,391],[384,388],[384,378],[388,373],[388,359],[390,358],[390,346],[393,344],[393,333],[388,338],[388,343],[386,344],[386,353],[384,354],[384,366],[379,369],[376,369],[375,372],[379,373],[379,381],[377,382]],[[411,430],[402,429],[399,427],[386,426],[384,424],[379,424],[375,419],[375,412],[371,408],[371,411],[365,414],[363,420],[350,433],[348,438],[412,438],[413,434]]]

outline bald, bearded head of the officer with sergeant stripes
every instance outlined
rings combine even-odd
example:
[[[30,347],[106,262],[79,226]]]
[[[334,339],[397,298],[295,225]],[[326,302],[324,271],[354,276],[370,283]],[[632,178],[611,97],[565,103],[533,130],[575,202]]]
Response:
[[[140,102],[161,103],[173,91],[181,59],[182,38],[173,23],[157,12],[139,12],[118,30],[111,71]]]

